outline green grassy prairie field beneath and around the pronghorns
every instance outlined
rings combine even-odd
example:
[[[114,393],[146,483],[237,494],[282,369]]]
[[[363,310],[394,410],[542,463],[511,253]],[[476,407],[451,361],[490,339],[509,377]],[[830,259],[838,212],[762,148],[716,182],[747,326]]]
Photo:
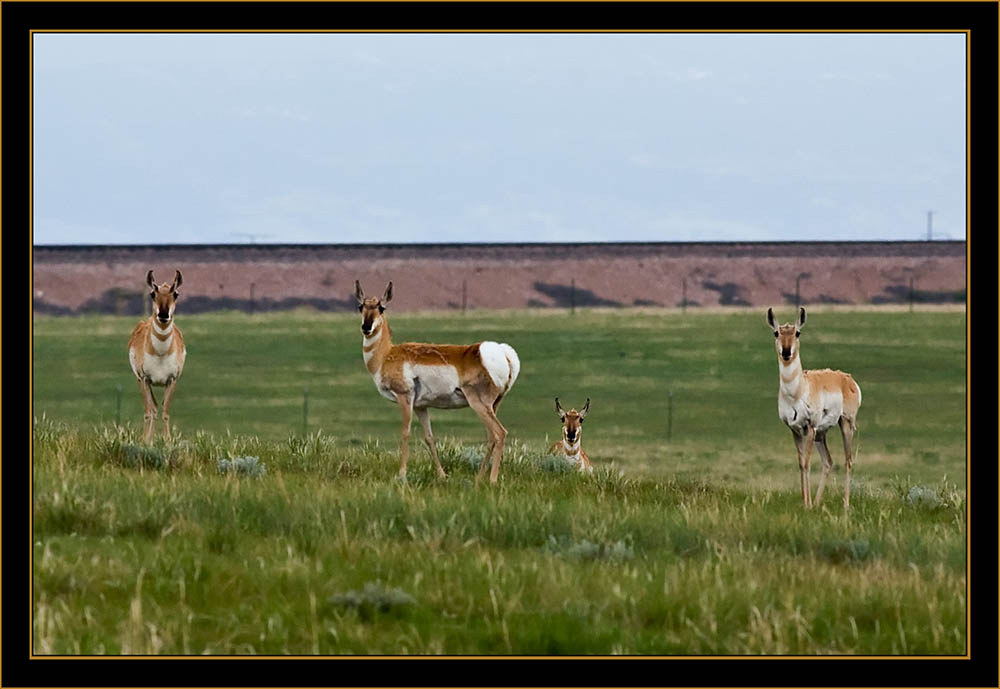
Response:
[[[136,319],[36,319],[34,651],[965,653],[965,312],[810,309],[805,367],[863,391],[845,517],[832,433],[832,485],[801,506],[763,311],[389,311],[396,341],[517,349],[478,488],[469,409],[431,414],[447,480],[419,424],[395,480],[355,314],[182,302],[175,438],[148,448]],[[544,454],[555,396],[593,400],[593,476]],[[240,457],[266,471],[220,473]]]

